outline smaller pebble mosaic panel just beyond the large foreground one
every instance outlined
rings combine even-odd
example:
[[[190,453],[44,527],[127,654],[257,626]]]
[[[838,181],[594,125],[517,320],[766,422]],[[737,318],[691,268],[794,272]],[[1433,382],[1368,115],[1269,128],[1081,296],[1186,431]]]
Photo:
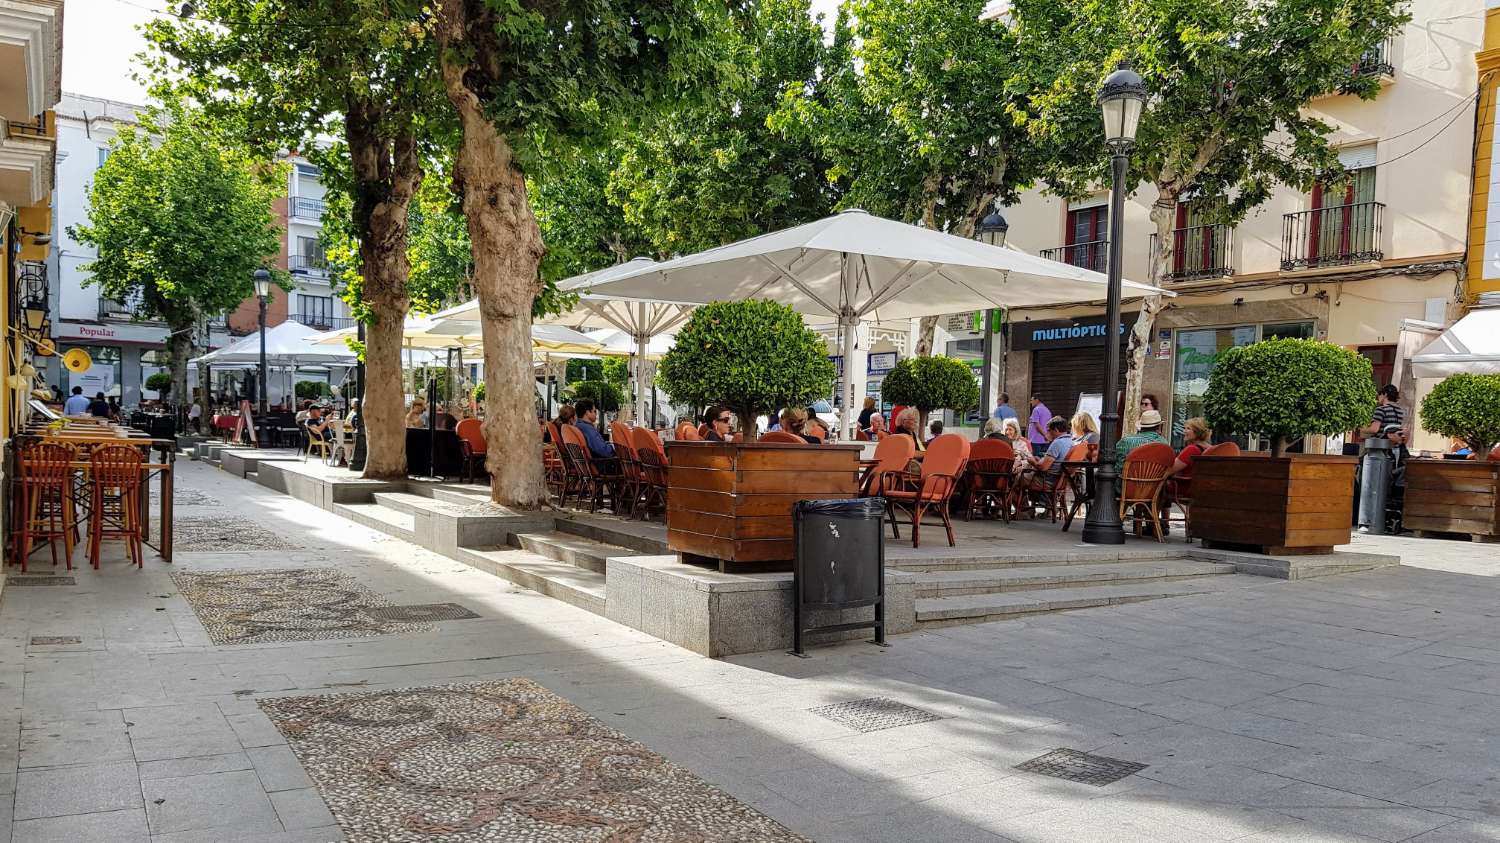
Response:
[[[324,640],[429,632],[430,624],[378,618],[392,603],[333,568],[176,572],[172,582],[214,644]]]

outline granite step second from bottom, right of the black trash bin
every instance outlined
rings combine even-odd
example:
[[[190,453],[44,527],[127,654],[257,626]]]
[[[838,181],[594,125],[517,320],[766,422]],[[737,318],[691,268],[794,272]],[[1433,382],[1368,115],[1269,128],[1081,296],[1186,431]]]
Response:
[[[966,594],[1080,588],[1125,582],[1172,582],[1232,573],[1234,573],[1234,566],[1224,562],[1152,560],[1138,562],[924,572],[914,576],[916,578],[916,597],[958,597]]]

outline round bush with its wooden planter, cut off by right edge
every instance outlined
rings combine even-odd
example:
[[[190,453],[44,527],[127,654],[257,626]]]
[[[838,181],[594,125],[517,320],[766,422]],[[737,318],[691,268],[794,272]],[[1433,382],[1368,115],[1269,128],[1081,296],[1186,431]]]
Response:
[[[1418,532],[1500,540],[1500,375],[1452,375],[1422,399],[1422,428],[1462,440],[1470,459],[1410,459],[1401,524]]]

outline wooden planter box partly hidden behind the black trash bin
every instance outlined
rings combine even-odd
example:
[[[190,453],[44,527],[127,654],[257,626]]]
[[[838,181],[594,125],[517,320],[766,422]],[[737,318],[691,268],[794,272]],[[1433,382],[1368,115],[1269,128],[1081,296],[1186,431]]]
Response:
[[[860,446],[668,442],[666,543],[726,573],[790,570],[792,504],[860,496]]]

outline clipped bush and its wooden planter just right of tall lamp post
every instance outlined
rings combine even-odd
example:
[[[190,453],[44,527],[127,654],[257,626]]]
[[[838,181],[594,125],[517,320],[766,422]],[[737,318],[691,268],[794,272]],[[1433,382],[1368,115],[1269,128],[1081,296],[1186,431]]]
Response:
[[[1314,339],[1268,339],[1222,352],[1203,416],[1224,434],[1258,434],[1270,454],[1192,465],[1191,534],[1266,554],[1329,554],[1353,525],[1354,458],[1287,454],[1288,441],[1370,423],[1370,360]]]

